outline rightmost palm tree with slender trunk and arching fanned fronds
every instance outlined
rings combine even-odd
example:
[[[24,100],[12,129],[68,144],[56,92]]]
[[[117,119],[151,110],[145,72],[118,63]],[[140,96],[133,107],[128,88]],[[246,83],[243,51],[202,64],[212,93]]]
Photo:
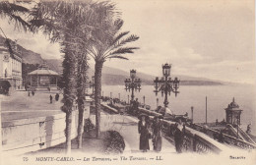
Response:
[[[103,63],[106,59],[124,59],[123,54],[133,53],[138,47],[124,47],[125,44],[134,42],[139,39],[137,35],[130,35],[126,38],[129,31],[119,32],[123,26],[121,19],[109,21],[109,18],[99,18],[99,25],[96,30],[93,30],[92,44],[88,47],[89,55],[95,59],[95,102],[96,102],[96,138],[100,133],[100,97],[101,97],[101,72]],[[106,22],[104,20],[107,20]]]

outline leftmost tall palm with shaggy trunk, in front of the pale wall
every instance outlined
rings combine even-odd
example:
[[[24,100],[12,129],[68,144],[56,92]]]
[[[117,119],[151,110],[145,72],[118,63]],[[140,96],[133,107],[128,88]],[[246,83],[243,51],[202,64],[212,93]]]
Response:
[[[77,25],[83,17],[90,17],[88,11],[83,8],[86,3],[43,1],[32,10],[32,25],[42,27],[51,41],[59,41],[64,53],[63,80],[64,96],[62,111],[66,113],[66,150],[71,151],[71,124],[73,105],[76,101],[76,73],[77,73],[77,51],[73,45],[73,35],[79,28]]]

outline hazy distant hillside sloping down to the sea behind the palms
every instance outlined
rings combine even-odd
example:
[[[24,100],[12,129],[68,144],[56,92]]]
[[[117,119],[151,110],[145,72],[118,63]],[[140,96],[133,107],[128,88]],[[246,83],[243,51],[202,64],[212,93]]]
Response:
[[[2,42],[5,38],[0,35],[0,42]],[[13,41],[12,41],[13,42]],[[46,62],[48,67],[58,72],[59,74],[62,73],[62,60],[61,59],[42,59],[40,54],[34,53],[31,50],[27,50],[23,48],[21,45],[18,44],[18,51],[21,52],[23,63],[25,64],[42,64]],[[94,67],[90,66],[91,68],[88,71],[89,78],[91,79],[94,75]],[[115,69],[111,67],[104,66],[102,69],[102,83],[103,84],[124,84],[124,80],[129,78],[129,70],[127,72]],[[137,72],[137,77],[141,79],[142,84],[153,84],[153,81],[156,77],[152,75],[143,74]],[[189,77],[183,75],[173,75],[173,77],[177,77],[181,80],[181,85],[220,85],[225,84],[224,82],[220,81],[213,81],[205,78],[196,78],[196,77]]]

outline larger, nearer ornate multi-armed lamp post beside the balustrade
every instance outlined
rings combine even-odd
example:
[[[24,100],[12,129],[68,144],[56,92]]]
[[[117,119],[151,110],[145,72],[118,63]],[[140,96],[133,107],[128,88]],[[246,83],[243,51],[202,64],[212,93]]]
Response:
[[[157,77],[154,81],[155,88],[154,90],[156,92],[156,95],[158,95],[158,92],[161,92],[161,96],[164,94],[164,107],[166,108],[168,106],[168,100],[167,95],[170,95],[171,92],[175,93],[175,96],[179,93],[177,89],[179,88],[179,80],[175,78],[172,80],[170,76],[170,64],[164,64],[162,65],[162,76],[160,79]]]

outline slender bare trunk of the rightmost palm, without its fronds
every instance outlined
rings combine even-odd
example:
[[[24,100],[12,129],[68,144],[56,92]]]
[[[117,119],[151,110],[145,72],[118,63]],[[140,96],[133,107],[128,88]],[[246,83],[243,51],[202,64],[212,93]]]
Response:
[[[100,97],[101,97],[101,72],[102,72],[103,62],[96,61],[95,69],[95,101],[96,101],[96,138],[100,134]]]

